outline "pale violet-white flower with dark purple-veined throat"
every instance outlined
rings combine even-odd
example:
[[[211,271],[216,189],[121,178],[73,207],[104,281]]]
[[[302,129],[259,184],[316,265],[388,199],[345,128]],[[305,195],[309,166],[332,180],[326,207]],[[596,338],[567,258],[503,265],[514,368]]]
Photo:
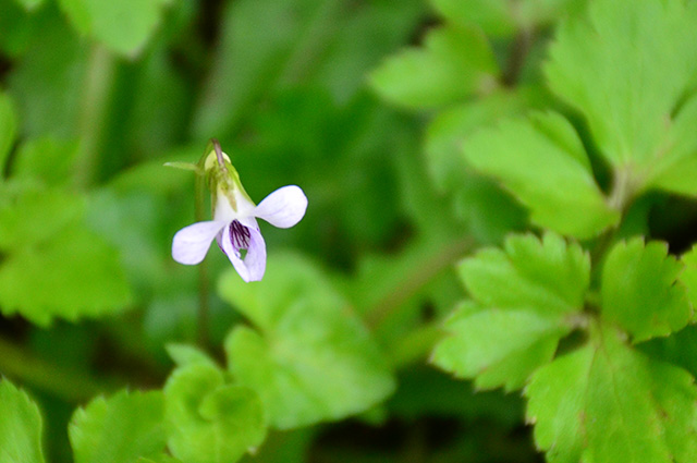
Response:
[[[228,155],[218,146],[216,148],[217,153],[211,153],[205,163],[215,192],[213,220],[197,222],[176,232],[172,257],[180,264],[199,264],[216,239],[244,281],[259,281],[266,270],[266,243],[256,219],[282,229],[293,227],[305,216],[307,197],[299,186],[289,185],[274,191],[256,206],[242,187]]]

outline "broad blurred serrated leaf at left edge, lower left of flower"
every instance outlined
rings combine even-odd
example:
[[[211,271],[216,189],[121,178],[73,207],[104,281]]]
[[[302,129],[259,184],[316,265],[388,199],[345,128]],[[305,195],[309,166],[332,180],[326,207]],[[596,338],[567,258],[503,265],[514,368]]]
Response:
[[[49,325],[127,308],[131,291],[118,253],[82,228],[68,228],[50,241],[26,246],[0,265],[0,307]]]

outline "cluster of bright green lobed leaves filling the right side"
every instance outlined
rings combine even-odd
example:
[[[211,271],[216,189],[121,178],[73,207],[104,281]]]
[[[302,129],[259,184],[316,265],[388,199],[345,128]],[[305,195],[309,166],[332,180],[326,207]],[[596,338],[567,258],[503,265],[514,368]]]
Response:
[[[374,85],[416,108],[485,93],[431,122],[433,173],[442,181],[452,175],[447,168],[461,175],[474,169],[494,179],[548,231],[510,235],[503,248],[460,265],[469,300],[449,318],[433,363],[481,389],[524,388],[535,440],[550,462],[695,460],[695,371],[649,341],[685,329],[671,340],[676,351],[689,346],[696,251],[675,258],[667,243],[629,237],[623,221],[648,192],[697,194],[695,3],[599,0],[563,22],[543,76],[576,125],[552,110],[514,115],[519,101],[497,93],[519,98],[523,85],[497,88],[494,56],[481,36],[486,9],[467,11],[481,27],[466,29],[455,26],[466,10],[449,7],[469,2],[435,3],[447,25],[424,48],[387,62]],[[496,24],[505,27],[491,34],[511,31]],[[421,71],[403,78],[409,69]],[[494,111],[510,117],[472,130]]]

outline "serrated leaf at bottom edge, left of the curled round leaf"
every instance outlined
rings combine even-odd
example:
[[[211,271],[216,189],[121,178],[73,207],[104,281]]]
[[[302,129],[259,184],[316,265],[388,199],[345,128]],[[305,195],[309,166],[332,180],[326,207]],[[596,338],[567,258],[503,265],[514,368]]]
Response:
[[[167,443],[164,401],[159,391],[127,392],[93,400],[69,427],[75,463],[135,463],[155,458]]]

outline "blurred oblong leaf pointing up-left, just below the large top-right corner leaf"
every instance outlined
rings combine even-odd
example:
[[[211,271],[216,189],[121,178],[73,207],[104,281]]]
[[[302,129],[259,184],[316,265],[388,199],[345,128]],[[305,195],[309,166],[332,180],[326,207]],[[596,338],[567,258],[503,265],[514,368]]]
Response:
[[[500,180],[541,227],[587,239],[620,220],[595,182],[574,127],[557,113],[480,130],[466,138],[464,155]]]

